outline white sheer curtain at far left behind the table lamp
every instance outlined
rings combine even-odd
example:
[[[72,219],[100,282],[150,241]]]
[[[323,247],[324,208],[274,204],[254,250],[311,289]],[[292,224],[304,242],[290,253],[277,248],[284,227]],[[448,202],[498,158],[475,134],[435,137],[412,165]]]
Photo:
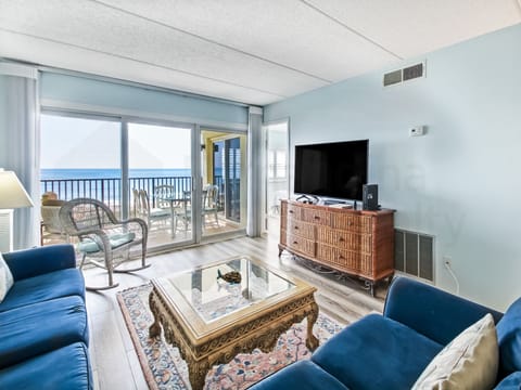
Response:
[[[0,168],[16,173],[35,204],[14,210],[14,249],[39,243],[38,70],[0,62]]]

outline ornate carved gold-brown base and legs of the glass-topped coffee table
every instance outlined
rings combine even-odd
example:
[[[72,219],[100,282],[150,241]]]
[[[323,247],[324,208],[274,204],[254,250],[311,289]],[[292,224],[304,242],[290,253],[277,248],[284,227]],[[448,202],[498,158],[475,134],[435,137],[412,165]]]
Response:
[[[178,347],[187,362],[190,384],[194,390],[203,389],[206,374],[213,365],[228,363],[237,354],[249,353],[255,348],[263,352],[271,351],[280,335],[305,317],[306,346],[312,351],[318,347],[318,339],[313,334],[313,325],[318,317],[314,287],[295,288],[288,299],[251,311],[247,315],[230,314],[228,324],[203,332],[201,337],[194,338],[190,324],[182,320],[183,316],[171,304],[173,297],[165,294],[161,283],[152,281],[152,285],[149,302],[154,323],[150,326],[150,337],[160,336],[163,326],[166,341]]]

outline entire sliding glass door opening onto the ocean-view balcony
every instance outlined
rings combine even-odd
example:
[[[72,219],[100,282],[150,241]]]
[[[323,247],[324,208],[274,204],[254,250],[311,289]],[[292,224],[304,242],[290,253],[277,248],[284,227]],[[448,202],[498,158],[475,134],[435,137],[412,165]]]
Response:
[[[245,150],[245,133],[45,113],[41,193],[144,219],[151,249],[193,244],[244,231]]]

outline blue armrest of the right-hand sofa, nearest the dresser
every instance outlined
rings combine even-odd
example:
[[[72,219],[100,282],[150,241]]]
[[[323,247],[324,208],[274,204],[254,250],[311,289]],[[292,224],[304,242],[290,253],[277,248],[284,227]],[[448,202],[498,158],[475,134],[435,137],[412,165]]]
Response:
[[[491,313],[497,323],[503,314],[484,306],[408,277],[392,283],[383,315],[443,346],[474,322]]]

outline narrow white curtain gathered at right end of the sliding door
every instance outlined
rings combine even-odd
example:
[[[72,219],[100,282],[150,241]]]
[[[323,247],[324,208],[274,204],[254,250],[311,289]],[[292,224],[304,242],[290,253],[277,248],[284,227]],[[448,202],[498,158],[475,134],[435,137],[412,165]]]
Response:
[[[263,232],[263,109],[250,107],[247,126],[247,224],[246,234]]]

